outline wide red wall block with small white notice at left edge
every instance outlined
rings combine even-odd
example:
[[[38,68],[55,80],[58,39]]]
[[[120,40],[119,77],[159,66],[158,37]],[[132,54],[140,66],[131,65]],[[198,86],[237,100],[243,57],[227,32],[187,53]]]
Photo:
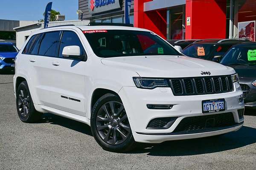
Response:
[[[226,0],[186,0],[186,39],[226,37]]]

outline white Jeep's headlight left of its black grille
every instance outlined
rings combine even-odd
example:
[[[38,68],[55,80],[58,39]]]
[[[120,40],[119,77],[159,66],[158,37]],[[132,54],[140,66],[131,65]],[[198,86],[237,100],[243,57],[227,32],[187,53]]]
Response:
[[[154,89],[159,87],[169,87],[166,79],[152,79],[141,77],[134,77],[133,79],[137,88]]]

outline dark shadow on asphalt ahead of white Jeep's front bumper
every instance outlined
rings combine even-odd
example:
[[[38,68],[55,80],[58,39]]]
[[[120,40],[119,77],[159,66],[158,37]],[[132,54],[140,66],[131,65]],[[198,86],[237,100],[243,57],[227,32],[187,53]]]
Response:
[[[150,156],[192,156],[216,153],[256,143],[255,134],[256,128],[243,126],[236,132],[221,136],[170,141],[161,144],[143,144],[143,147],[130,153],[148,153]]]

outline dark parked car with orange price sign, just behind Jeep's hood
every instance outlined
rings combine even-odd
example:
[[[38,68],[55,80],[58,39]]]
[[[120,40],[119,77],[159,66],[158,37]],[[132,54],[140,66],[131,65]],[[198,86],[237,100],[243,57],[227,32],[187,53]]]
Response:
[[[198,40],[186,47],[182,53],[189,57],[219,62],[232,45],[249,42],[246,39]]]

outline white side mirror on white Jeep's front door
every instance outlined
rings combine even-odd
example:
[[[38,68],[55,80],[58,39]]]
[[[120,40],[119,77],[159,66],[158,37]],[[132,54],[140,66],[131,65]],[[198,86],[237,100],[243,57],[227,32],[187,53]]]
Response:
[[[62,57],[68,59],[84,60],[84,56],[81,55],[80,47],[77,45],[70,45],[63,48]]]

